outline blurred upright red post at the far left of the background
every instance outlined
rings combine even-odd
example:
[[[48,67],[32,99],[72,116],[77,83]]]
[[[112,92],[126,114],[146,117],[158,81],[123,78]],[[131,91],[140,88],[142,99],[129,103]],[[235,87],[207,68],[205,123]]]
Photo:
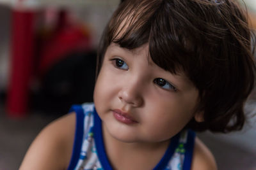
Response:
[[[33,11],[12,11],[11,70],[7,111],[11,117],[22,117],[28,106],[29,81],[34,54]]]

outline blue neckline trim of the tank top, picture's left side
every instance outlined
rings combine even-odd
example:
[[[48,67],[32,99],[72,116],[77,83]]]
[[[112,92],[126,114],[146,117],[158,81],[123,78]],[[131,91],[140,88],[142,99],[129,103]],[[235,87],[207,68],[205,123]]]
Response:
[[[103,143],[101,120],[95,108],[93,110],[93,116],[94,116],[93,137],[95,139],[95,145],[96,145],[98,157],[100,160],[100,164],[102,165],[102,168],[104,170],[112,170],[112,167],[109,163],[107,153]]]

